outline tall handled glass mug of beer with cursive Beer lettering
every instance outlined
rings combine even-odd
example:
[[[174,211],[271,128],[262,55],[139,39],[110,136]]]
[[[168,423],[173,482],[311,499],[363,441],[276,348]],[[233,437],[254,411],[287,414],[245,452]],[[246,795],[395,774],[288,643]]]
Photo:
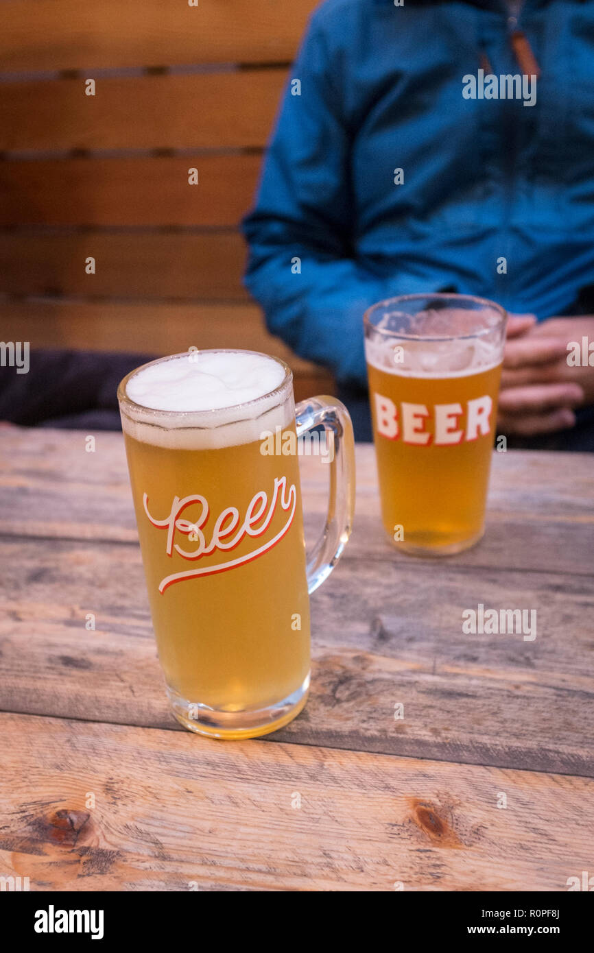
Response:
[[[174,716],[215,738],[276,731],[307,699],[308,594],[351,533],[350,416],[325,396],[296,408],[287,365],[246,351],[152,361],[122,380],[118,400]],[[306,557],[297,437],[303,447],[313,428],[330,500]]]

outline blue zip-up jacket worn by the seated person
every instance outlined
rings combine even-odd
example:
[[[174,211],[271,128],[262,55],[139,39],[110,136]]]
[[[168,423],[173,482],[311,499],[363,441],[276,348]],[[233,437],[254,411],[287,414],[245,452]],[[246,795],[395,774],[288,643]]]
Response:
[[[338,380],[364,383],[363,311],[394,294],[594,312],[594,0],[508,18],[505,0],[327,0],[310,20],[243,222],[246,284]],[[465,98],[481,69],[522,73],[513,30],[536,103]]]

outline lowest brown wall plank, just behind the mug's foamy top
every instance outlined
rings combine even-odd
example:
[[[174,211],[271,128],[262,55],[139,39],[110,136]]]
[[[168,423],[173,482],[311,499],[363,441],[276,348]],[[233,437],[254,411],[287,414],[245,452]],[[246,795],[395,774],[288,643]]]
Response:
[[[327,372],[268,333],[259,308],[252,304],[10,301],[0,303],[0,324],[4,339],[28,340],[31,349],[148,355],[178,354],[192,346],[263,351],[286,360],[296,377],[316,380],[318,388],[334,387]],[[312,391],[302,396],[312,396]]]

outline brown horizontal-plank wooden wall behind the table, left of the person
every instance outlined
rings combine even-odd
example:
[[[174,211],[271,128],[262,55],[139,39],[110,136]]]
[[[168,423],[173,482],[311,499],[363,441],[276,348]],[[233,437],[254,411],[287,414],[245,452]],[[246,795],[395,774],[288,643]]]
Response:
[[[330,376],[268,335],[248,304],[236,233],[282,64],[316,6],[2,0],[3,72],[78,71],[0,83],[0,293],[22,298],[0,305],[5,339],[154,354],[191,344],[263,350],[289,361],[297,395],[332,391]],[[186,69],[137,74],[174,66]],[[179,150],[188,152],[150,154]],[[193,167],[198,185],[188,183]],[[89,256],[96,274],[85,274]]]

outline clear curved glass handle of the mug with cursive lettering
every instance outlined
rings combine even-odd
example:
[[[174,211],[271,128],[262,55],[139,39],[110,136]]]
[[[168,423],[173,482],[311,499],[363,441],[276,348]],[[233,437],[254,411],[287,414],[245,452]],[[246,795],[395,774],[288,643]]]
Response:
[[[308,591],[313,593],[336,566],[353,529],[355,438],[344,404],[335,397],[311,397],[296,407],[297,437],[323,427],[330,459],[330,498],[321,536],[308,554]]]

